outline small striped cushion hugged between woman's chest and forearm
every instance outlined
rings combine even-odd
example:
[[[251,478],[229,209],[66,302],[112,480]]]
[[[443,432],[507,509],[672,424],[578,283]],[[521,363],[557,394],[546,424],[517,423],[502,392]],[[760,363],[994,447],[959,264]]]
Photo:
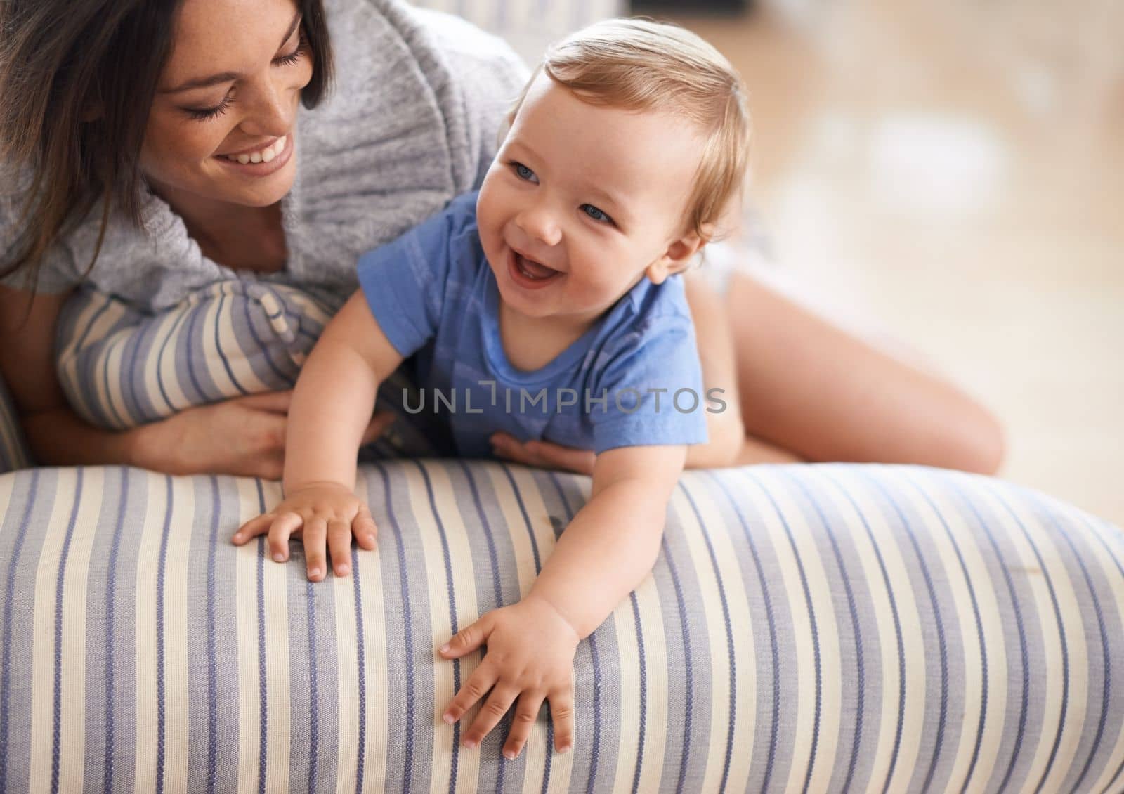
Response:
[[[125,430],[288,389],[332,316],[292,287],[220,281],[157,315],[82,291],[58,323],[58,380],[84,419]]]

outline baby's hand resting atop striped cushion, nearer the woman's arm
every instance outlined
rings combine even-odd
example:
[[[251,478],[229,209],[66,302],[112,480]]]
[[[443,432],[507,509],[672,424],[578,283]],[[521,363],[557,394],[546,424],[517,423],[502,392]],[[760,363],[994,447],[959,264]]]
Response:
[[[366,505],[338,482],[309,482],[285,495],[272,512],[251,518],[238,527],[232,541],[242,545],[252,538],[269,533],[270,557],[278,562],[289,559],[289,538],[305,540],[305,568],[310,581],[327,576],[325,541],[332,552],[336,576],[351,572],[351,539],[361,549],[377,548],[378,527]]]

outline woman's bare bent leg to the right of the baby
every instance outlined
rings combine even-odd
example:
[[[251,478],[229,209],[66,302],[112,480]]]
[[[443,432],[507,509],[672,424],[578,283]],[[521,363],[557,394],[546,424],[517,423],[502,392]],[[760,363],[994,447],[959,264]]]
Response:
[[[776,450],[814,461],[998,469],[998,423],[951,384],[742,274],[732,279],[726,314],[747,436],[738,462]]]

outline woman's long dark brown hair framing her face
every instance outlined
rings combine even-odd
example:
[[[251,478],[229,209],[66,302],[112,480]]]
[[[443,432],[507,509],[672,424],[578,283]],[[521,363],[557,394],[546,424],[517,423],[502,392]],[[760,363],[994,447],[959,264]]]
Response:
[[[182,0],[0,0],[0,179],[22,211],[0,276],[27,269],[102,201],[140,224],[140,145]],[[315,67],[315,107],[332,84],[323,0],[297,0]],[[13,186],[12,183],[16,182]],[[2,197],[0,197],[2,199]]]

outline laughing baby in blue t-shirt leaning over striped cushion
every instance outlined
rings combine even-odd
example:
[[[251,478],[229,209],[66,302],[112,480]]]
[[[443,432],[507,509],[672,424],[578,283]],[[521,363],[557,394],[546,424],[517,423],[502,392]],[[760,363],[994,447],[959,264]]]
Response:
[[[578,643],[649,575],[688,444],[706,441],[681,279],[740,192],[749,119],[737,74],[697,36],[640,20],[562,42],[524,89],[479,195],[364,254],[361,289],[325,330],[292,399],[284,500],[235,543],[303,536],[308,578],[374,549],[353,490],[379,385],[417,353],[423,391],[461,398],[456,452],[497,431],[592,450],[589,502],[535,585],[441,648],[487,655],[445,711],[486,693],[464,746],[516,703],[515,758],[544,700],[555,749],[573,743]],[[528,407],[528,398],[531,405]],[[662,398],[662,399],[661,399]]]

